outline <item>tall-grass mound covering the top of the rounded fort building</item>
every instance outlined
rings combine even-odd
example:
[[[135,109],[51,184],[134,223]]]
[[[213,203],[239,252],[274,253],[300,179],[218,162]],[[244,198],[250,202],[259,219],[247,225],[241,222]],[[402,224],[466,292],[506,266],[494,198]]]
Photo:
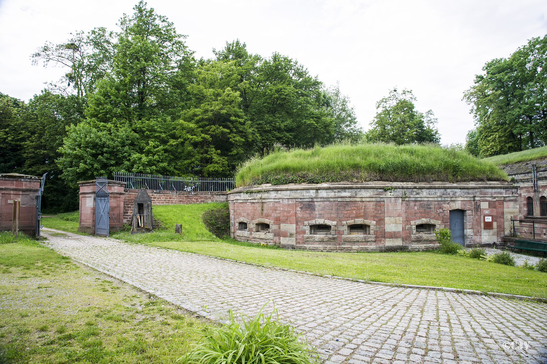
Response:
[[[247,161],[238,187],[271,183],[507,181],[491,162],[438,145],[335,144],[276,151]]]

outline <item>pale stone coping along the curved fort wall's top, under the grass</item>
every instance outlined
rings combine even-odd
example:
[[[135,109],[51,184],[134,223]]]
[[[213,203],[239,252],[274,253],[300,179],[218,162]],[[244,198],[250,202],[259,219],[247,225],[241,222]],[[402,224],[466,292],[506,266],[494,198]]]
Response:
[[[228,191],[231,193],[260,193],[265,191],[289,191],[289,190],[335,190],[335,189],[383,189],[385,187],[393,187],[393,189],[491,189],[491,188],[511,188],[517,187],[509,182],[431,182],[431,183],[413,183],[413,182],[366,182],[366,183],[351,183],[351,182],[336,182],[322,184],[287,184],[287,185],[271,185],[263,184],[259,186],[244,186],[237,187],[234,190]],[[256,191],[256,192],[250,192]]]

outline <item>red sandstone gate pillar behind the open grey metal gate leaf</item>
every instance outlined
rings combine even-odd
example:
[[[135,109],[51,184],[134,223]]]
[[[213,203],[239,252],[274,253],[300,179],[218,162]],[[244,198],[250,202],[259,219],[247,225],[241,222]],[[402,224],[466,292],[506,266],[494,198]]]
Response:
[[[80,181],[80,225],[78,231],[95,234],[95,180]],[[108,180],[110,195],[109,227],[124,225],[124,187],[125,182]]]

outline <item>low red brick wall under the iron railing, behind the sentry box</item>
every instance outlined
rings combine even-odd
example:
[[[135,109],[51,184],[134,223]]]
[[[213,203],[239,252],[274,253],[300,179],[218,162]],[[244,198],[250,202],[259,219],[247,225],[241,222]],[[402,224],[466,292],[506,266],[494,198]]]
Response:
[[[133,201],[139,190],[125,189],[124,190],[124,222],[131,224],[131,216],[133,214]],[[191,203],[207,203],[207,202],[226,202],[226,192],[182,192],[182,191],[158,191],[147,190],[148,195],[152,199],[154,205],[174,205],[174,204],[191,204]]]

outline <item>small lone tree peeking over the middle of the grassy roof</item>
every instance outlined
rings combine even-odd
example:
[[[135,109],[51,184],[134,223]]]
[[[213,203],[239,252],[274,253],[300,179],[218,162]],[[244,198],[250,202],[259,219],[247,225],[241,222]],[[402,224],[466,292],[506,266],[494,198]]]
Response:
[[[389,91],[389,96],[376,103],[376,116],[366,132],[370,142],[401,144],[439,143],[437,119],[432,110],[420,113],[415,109],[412,90]]]

